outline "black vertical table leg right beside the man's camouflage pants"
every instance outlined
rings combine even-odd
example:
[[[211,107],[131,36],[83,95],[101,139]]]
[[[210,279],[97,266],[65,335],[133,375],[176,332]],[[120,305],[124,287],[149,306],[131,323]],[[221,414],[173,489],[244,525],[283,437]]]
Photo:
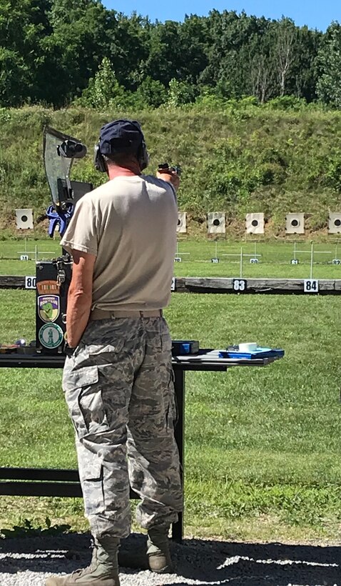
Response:
[[[180,457],[180,476],[181,484],[183,486],[184,480],[184,424],[185,424],[185,371],[183,369],[174,369],[174,388],[175,399],[178,407],[178,421],[175,424],[174,435],[175,441],[178,444]],[[178,522],[172,525],[172,539],[181,542],[183,539],[183,513],[179,513]]]

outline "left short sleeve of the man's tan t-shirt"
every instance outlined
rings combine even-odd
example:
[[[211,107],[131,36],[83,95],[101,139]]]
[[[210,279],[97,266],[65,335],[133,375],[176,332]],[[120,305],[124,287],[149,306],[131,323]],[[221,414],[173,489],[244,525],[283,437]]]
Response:
[[[86,197],[83,197],[76,204],[73,217],[66,229],[61,246],[67,252],[72,249],[81,252],[96,254],[98,249],[98,234],[96,229],[96,214],[93,204]]]

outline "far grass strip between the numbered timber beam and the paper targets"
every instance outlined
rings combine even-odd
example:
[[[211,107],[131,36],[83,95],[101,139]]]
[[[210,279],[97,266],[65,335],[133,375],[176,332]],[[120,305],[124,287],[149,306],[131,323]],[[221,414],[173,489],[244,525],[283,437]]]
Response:
[[[340,279],[341,264],[333,265],[332,259],[341,259],[341,239],[331,237],[327,242],[313,242],[312,276],[316,279]],[[181,262],[174,263],[176,277],[239,277],[240,253],[243,254],[243,277],[310,278],[311,244],[294,241],[240,242],[220,240],[178,239]],[[21,253],[29,254],[29,261],[21,261]],[[58,239],[0,240],[0,274],[34,274],[35,258],[46,259],[60,254]],[[225,256],[228,255],[228,256]],[[219,263],[212,259],[218,257]],[[299,264],[290,264],[297,258]],[[258,264],[250,264],[258,258]]]

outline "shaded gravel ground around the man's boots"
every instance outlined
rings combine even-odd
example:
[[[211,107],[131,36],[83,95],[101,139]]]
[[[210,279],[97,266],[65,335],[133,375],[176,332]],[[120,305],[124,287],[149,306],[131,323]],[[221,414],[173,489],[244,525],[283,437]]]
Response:
[[[176,573],[156,575],[143,569],[145,543],[134,534],[122,545],[121,586],[341,586],[341,545],[185,539],[172,544]],[[0,586],[44,586],[51,574],[85,567],[89,546],[88,535],[76,534],[1,540]]]

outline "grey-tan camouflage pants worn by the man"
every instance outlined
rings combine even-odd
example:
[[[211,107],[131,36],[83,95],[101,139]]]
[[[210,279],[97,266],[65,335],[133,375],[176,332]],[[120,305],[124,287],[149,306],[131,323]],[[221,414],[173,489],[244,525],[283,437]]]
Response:
[[[129,535],[129,483],[142,527],[175,522],[182,510],[170,346],[160,317],[101,319],[66,358],[63,390],[94,537]]]

